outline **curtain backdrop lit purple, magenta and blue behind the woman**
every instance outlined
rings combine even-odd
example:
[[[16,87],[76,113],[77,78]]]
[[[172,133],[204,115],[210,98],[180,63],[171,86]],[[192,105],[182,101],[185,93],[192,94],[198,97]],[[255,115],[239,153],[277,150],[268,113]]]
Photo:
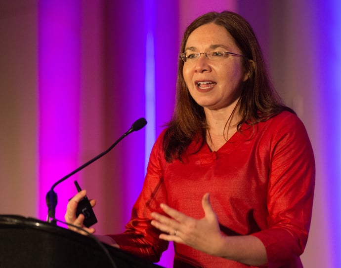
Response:
[[[97,200],[97,233],[123,231],[171,118],[181,36],[197,16],[226,9],[253,26],[275,87],[313,145],[303,264],[340,267],[338,0],[0,0],[0,214],[45,220],[50,187],[145,117],[145,128],[55,188],[58,219],[78,180]],[[160,265],[171,267],[172,254],[171,245]]]

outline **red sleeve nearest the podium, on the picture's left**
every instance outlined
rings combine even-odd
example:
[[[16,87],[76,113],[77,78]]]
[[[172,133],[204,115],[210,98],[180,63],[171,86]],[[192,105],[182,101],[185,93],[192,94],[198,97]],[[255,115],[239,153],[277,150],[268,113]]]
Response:
[[[160,203],[166,203],[167,193],[164,185],[163,170],[165,158],[162,150],[164,132],[158,137],[150,154],[147,174],[142,191],[137,198],[130,222],[122,234],[112,234],[112,237],[122,250],[136,256],[158,262],[161,254],[168,248],[168,242],[159,239],[160,231],[151,226],[150,213],[160,209]]]

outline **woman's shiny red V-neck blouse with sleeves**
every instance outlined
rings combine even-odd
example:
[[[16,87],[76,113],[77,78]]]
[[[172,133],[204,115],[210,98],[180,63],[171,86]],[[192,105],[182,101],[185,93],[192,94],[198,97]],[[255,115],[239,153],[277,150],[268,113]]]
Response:
[[[196,219],[210,192],[220,230],[254,235],[265,245],[268,267],[300,268],[313,203],[315,164],[308,135],[296,115],[282,112],[254,127],[244,124],[218,151],[192,142],[183,162],[166,162],[164,132],[150,155],[147,175],[123,234],[110,235],[137,256],[158,261],[168,242],[150,225],[160,203]],[[249,267],[174,243],[174,267]]]

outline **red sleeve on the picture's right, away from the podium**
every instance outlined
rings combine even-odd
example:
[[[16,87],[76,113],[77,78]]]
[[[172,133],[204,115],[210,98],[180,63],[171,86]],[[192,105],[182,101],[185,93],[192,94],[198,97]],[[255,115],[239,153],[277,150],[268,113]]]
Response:
[[[302,122],[288,113],[278,117],[270,145],[268,229],[253,234],[265,245],[269,268],[297,267],[308,238],[315,184],[314,156]]]

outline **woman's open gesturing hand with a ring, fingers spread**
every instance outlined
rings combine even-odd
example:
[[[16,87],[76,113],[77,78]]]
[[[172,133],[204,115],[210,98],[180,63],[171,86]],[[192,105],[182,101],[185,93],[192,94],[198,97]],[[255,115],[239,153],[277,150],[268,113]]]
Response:
[[[210,255],[219,256],[224,236],[220,232],[219,222],[209,198],[209,193],[205,193],[202,199],[205,217],[200,220],[161,204],[162,210],[171,218],[156,212],[151,213],[153,218],[151,224],[165,232],[160,234],[160,239],[182,243]]]

